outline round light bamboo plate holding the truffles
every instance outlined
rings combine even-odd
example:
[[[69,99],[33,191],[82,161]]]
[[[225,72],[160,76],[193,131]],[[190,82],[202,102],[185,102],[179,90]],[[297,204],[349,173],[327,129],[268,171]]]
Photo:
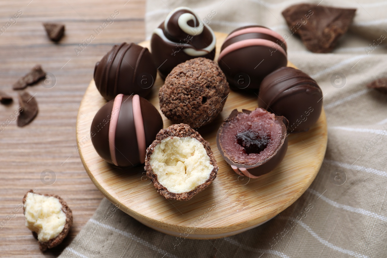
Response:
[[[216,33],[216,56],[226,36]],[[149,41],[140,45],[149,48]],[[293,65],[288,63],[288,66]],[[166,128],[172,123],[159,109],[161,85],[163,80],[158,76],[147,99],[159,110]],[[215,154],[219,166],[217,178],[187,202],[170,201],[157,193],[143,166],[114,168],[95,151],[91,143],[91,121],[105,103],[92,80],[80,103],[76,125],[79,155],[87,173],[103,195],[121,210],[146,226],[175,236],[196,239],[231,236],[275,217],[307,190],[320,169],[327,147],[323,110],[319,121],[308,132],[288,136],[288,152],[274,171],[258,179],[238,176],[219,154],[216,132],[233,109],[255,109],[257,96],[231,91],[221,114],[198,130]]]

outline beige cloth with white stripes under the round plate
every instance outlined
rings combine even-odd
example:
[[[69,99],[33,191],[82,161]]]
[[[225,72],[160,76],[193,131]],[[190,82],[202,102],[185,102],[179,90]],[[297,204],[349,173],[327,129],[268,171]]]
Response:
[[[148,0],[146,34],[149,38],[171,9],[183,5],[202,18],[215,10],[209,24],[214,31],[260,24],[285,35],[289,31],[281,12],[296,2]],[[324,163],[300,199],[255,229],[215,240],[184,239],[178,246],[175,237],[143,226],[120,210],[112,213],[114,205],[104,199],[60,257],[387,257],[387,96],[366,88],[372,80],[387,77],[385,45],[370,48],[387,36],[387,2],[320,4],[357,11],[332,53],[310,53],[297,36],[287,41],[289,60],[322,88],[328,121]],[[336,75],[342,78],[338,84]]]

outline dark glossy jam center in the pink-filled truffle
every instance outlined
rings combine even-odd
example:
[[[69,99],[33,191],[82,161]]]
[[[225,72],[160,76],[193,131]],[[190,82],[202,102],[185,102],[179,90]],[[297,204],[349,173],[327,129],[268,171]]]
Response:
[[[259,154],[269,144],[269,140],[269,136],[251,131],[236,134],[236,142],[245,149],[247,154]]]

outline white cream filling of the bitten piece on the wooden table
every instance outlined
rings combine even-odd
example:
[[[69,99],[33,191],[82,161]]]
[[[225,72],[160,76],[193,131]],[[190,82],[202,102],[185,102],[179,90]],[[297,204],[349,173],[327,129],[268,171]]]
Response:
[[[62,203],[53,196],[28,193],[24,203],[26,226],[38,234],[38,240],[47,242],[57,237],[66,224]]]

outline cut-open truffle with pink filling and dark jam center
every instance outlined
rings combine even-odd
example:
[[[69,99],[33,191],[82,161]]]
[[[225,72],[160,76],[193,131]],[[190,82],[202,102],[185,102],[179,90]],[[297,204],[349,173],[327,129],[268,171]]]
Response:
[[[286,118],[263,108],[242,112],[234,109],[217,132],[218,150],[235,173],[257,178],[272,171],[284,158],[287,126]]]

